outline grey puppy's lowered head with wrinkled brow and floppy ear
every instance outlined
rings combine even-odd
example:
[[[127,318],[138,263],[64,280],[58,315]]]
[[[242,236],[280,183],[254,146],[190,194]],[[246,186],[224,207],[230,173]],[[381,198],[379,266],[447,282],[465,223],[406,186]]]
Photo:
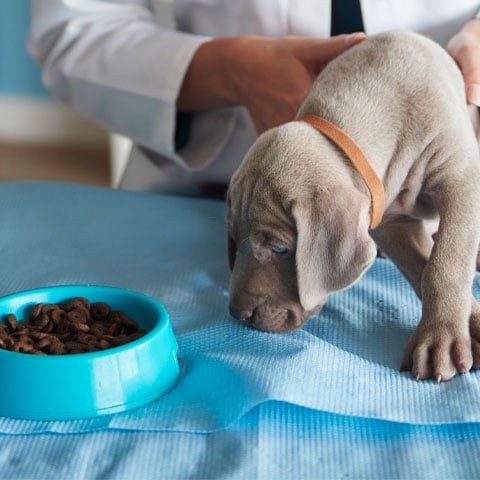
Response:
[[[227,193],[230,312],[272,332],[301,327],[376,255],[369,198],[324,171],[324,155],[338,152],[309,148],[291,130],[263,134]]]

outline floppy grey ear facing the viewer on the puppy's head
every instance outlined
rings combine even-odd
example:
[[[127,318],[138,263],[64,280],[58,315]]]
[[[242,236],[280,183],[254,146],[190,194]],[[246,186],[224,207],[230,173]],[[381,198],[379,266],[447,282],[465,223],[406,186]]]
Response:
[[[343,189],[342,189],[343,190]],[[377,249],[368,234],[369,203],[346,190],[296,204],[296,269],[302,307],[323,305],[328,294],[354,283],[372,264]],[[329,197],[329,198],[328,198]]]

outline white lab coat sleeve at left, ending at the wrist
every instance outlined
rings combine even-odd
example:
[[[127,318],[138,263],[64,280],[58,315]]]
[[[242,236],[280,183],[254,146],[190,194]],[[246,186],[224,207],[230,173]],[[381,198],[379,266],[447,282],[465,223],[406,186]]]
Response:
[[[52,94],[177,161],[176,99],[193,54],[208,40],[160,27],[146,1],[32,2],[29,52]]]

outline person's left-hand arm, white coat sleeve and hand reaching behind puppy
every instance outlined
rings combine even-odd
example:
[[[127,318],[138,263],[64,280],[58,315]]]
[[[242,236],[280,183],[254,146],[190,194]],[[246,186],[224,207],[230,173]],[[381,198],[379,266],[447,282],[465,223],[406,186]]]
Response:
[[[244,106],[261,132],[293,119],[323,66],[365,38],[212,40],[159,27],[143,3],[33,0],[30,52],[55,96],[167,155],[177,108]]]

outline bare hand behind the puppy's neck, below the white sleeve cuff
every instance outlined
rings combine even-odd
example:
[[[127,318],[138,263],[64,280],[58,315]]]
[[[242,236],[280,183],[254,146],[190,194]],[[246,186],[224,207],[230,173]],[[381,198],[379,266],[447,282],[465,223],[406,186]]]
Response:
[[[212,40],[194,56],[179,110],[243,105],[259,133],[293,120],[318,73],[365,34]]]

